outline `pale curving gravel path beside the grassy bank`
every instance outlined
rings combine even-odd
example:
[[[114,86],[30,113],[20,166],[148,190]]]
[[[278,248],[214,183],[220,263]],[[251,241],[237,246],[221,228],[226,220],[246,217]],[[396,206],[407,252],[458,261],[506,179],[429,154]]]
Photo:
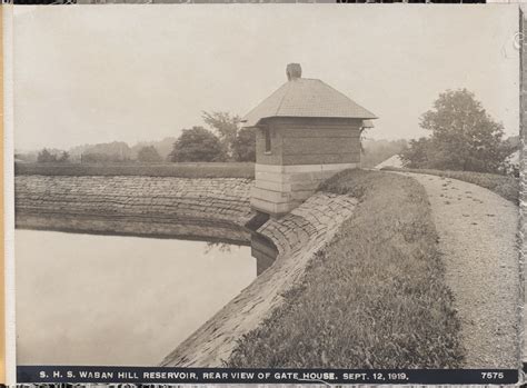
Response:
[[[426,189],[455,296],[465,368],[518,368],[518,208],[479,186],[405,173]]]

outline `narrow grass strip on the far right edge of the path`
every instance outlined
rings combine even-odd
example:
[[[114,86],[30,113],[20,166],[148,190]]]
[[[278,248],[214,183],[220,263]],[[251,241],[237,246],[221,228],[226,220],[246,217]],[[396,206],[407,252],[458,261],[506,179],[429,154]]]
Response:
[[[509,201],[519,203],[519,179],[507,176],[499,176],[496,173],[484,173],[473,171],[444,171],[429,169],[410,169],[410,168],[395,168],[385,167],[386,171],[401,171],[401,172],[417,172],[428,173],[438,177],[451,178],[463,180],[469,183],[481,186],[497,195],[508,199]]]

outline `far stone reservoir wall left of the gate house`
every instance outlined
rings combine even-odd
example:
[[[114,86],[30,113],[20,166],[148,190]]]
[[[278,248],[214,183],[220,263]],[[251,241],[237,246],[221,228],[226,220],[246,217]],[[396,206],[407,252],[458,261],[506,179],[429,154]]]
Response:
[[[250,179],[16,177],[18,228],[248,243]]]

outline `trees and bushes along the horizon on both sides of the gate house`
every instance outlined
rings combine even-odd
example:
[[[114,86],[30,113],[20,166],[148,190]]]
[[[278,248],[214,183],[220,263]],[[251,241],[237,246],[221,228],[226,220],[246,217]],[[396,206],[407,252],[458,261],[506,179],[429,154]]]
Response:
[[[165,139],[163,155],[159,147],[145,145],[132,159],[128,145],[113,142],[93,146],[81,155],[81,161],[255,161],[255,132],[241,127],[239,116],[203,111],[202,120],[209,128],[193,126],[183,129],[177,139]],[[518,138],[505,139],[503,125],[494,121],[467,89],[440,93],[432,108],[420,117],[419,126],[429,136],[378,143],[366,140],[362,165],[374,167],[398,153],[408,168],[518,175],[517,165],[510,162],[510,155],[519,148]],[[68,162],[70,153],[43,149],[37,161]]]

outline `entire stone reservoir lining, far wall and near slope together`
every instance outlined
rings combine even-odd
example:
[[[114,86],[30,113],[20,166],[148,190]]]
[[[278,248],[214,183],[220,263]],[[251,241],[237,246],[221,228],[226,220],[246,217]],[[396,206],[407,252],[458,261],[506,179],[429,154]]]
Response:
[[[247,179],[171,177],[16,177],[19,228],[100,233],[216,238],[249,243],[253,216]],[[278,250],[276,261],[182,344],[161,366],[219,367],[237,340],[255,329],[301,279],[314,255],[352,213],[356,200],[317,192],[257,232]]]

